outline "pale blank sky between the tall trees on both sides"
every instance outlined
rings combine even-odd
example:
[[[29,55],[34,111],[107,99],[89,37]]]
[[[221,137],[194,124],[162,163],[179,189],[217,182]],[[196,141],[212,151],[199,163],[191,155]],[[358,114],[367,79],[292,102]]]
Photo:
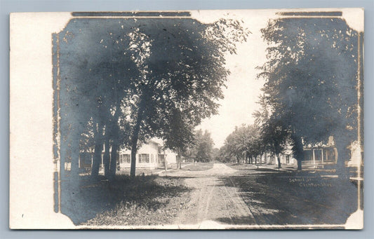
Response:
[[[237,45],[236,55],[227,55],[226,57],[227,68],[231,74],[227,78],[227,88],[223,89],[225,98],[218,102],[220,104],[219,113],[204,119],[201,125],[196,127],[196,129],[211,132],[211,137],[217,148],[224,144],[226,137],[234,130],[235,126],[253,123],[253,111],[258,109],[256,102],[258,102],[264,81],[257,78],[260,70],[255,68],[266,61],[267,48],[267,43],[261,38],[260,29],[266,27],[269,16],[274,16],[275,11],[252,13],[235,11],[228,16],[243,20],[243,27],[251,31],[251,34],[246,42]],[[217,18],[219,15],[220,13],[217,13],[216,16],[211,16],[211,19]],[[222,15],[220,16],[222,17]],[[199,19],[199,17],[197,18]],[[208,21],[206,18],[203,20]]]

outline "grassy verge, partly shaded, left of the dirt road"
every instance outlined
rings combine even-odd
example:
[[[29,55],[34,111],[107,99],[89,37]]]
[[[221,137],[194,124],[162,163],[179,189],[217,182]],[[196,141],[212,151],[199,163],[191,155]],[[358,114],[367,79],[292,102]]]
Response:
[[[79,190],[65,188],[63,198],[62,213],[87,228],[171,224],[190,200],[184,179],[156,175],[86,182]]]

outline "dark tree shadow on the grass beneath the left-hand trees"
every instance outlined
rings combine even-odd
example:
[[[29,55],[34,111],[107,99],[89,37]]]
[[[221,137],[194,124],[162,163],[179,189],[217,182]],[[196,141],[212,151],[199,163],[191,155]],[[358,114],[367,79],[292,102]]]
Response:
[[[120,203],[143,203],[150,210],[157,210],[167,201],[155,198],[173,198],[189,191],[182,178],[139,176],[131,179],[127,175],[116,175],[109,183],[104,177],[91,180],[79,177],[61,184],[61,212],[75,225],[83,224],[98,214],[113,210]]]

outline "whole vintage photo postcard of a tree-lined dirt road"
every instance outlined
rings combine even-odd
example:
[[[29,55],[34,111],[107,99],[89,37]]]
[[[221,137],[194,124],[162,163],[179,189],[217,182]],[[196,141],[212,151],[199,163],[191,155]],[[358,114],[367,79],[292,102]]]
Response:
[[[363,228],[363,9],[10,22],[10,228]]]

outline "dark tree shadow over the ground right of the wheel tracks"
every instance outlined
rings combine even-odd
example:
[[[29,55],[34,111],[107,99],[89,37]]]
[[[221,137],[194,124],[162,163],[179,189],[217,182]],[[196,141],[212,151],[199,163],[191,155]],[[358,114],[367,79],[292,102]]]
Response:
[[[239,189],[243,201],[259,225],[342,225],[357,210],[357,188],[347,180],[281,172],[255,177],[222,178]],[[248,218],[218,221],[253,224]]]

